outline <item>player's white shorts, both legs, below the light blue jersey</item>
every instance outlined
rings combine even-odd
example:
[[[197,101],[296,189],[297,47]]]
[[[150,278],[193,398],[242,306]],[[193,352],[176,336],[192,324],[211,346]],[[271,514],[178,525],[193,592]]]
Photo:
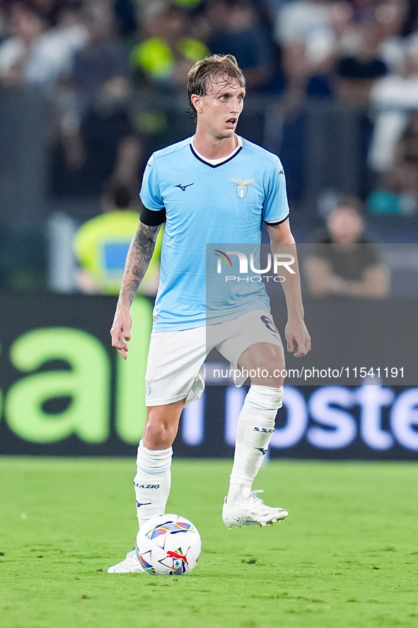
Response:
[[[166,406],[185,399],[188,406],[204,391],[204,360],[216,347],[238,370],[240,356],[256,343],[282,347],[272,314],[261,309],[215,325],[153,331],[145,376],[146,406]],[[235,379],[242,386],[246,375]]]

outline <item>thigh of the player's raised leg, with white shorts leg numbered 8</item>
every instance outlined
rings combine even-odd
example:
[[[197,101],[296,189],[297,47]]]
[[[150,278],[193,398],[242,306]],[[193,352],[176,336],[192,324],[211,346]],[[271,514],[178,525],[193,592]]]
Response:
[[[236,385],[243,384],[250,375],[254,384],[281,386],[284,349],[272,314],[263,310],[247,312],[235,321],[228,321],[225,330],[226,337],[217,348],[236,371]],[[239,370],[242,375],[238,375]]]

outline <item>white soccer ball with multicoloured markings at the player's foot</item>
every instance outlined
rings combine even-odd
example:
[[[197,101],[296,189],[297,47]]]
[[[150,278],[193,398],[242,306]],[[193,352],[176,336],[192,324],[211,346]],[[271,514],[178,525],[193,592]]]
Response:
[[[195,526],[180,515],[157,515],[141,527],[135,548],[153,576],[183,576],[196,566],[202,541]]]

